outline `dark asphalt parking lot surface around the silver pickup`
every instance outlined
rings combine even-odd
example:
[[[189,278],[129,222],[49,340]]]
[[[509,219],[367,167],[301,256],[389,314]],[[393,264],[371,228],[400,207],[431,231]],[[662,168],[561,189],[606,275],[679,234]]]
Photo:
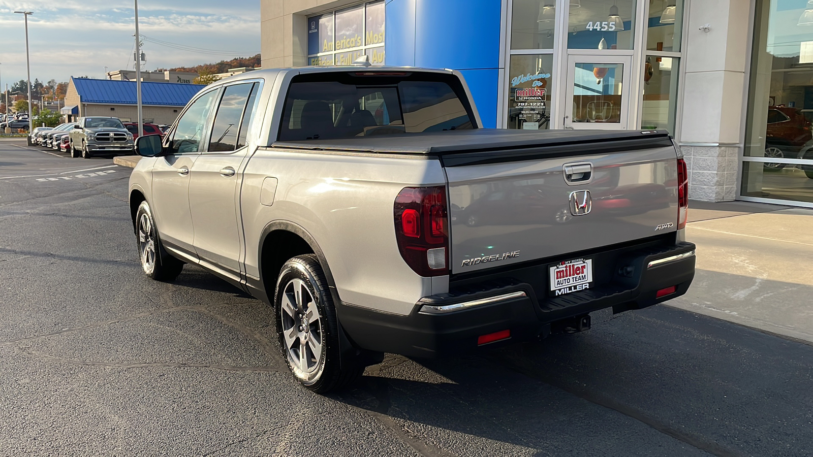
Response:
[[[0,455],[813,455],[813,346],[688,301],[388,355],[311,394],[261,302],[199,268],[141,273],[129,168],[24,145],[0,140]]]

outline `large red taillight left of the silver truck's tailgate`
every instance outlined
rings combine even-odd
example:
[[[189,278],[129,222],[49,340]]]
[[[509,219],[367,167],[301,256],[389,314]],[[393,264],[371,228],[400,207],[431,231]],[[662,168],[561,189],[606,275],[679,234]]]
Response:
[[[449,274],[446,188],[405,187],[395,198],[395,238],[407,265],[420,276]]]

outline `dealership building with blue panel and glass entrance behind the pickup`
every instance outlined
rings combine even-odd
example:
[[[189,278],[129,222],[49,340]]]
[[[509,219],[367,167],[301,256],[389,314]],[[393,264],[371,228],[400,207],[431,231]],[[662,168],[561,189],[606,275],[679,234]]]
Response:
[[[813,207],[813,0],[262,0],[261,19],[264,68],[454,68],[485,127],[667,129],[692,198]]]

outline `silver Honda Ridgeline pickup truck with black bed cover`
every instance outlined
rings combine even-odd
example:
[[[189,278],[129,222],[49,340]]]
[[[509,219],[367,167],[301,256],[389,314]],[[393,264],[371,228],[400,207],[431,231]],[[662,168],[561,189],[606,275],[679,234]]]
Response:
[[[685,294],[686,165],[663,131],[480,127],[458,72],[307,67],[207,86],[144,159],[141,266],[195,263],[270,305],[327,392],[384,352],[461,355]]]

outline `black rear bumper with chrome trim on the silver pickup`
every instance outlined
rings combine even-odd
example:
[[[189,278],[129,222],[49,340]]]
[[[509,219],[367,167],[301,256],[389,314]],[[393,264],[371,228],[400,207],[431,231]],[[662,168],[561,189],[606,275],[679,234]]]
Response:
[[[604,308],[622,312],[665,302],[685,294],[694,277],[694,245],[688,242],[619,259],[633,266],[632,277],[559,297],[539,294],[547,288],[546,276],[541,276],[544,284],[530,284],[506,274],[421,298],[407,316],[350,305],[340,305],[338,316],[362,349],[410,357],[463,355],[546,337],[573,318]]]

